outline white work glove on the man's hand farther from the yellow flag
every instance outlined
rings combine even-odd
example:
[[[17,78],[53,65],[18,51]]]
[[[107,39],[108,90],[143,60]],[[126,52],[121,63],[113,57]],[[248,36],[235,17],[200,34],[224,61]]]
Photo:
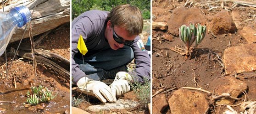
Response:
[[[109,85],[114,96],[117,98],[124,93],[130,91],[131,87],[129,83],[132,81],[132,77],[129,73],[120,71],[116,74],[116,78],[113,83]]]

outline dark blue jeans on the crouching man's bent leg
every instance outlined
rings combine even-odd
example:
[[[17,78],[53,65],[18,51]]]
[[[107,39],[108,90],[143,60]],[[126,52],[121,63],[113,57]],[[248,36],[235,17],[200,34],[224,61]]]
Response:
[[[100,51],[89,57],[83,57],[83,60],[74,57],[75,62],[86,76],[98,81],[103,79],[105,71],[127,65],[133,59],[134,52],[129,46],[124,46],[118,50]]]

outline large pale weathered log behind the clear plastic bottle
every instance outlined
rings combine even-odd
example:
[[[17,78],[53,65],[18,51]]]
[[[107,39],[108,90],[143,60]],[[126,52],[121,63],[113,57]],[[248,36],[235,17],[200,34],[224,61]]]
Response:
[[[20,0],[15,4],[4,7],[4,10],[7,12],[11,8],[19,5],[25,5],[33,12],[31,20],[33,36],[70,22],[70,0]],[[10,43],[20,40],[24,29],[25,26],[17,28],[12,35]],[[24,38],[27,37],[29,37],[28,27],[24,35]]]

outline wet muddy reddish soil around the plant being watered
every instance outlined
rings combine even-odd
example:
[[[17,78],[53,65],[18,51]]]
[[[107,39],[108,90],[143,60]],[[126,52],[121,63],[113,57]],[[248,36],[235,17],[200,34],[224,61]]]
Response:
[[[35,48],[42,48],[52,53],[56,53],[70,60],[70,25],[69,23],[57,27],[50,32]],[[35,36],[34,36],[35,37]],[[17,45],[18,42],[13,42],[10,47]],[[21,45],[30,45],[29,38],[23,39]],[[8,48],[7,47],[7,50]],[[13,55],[7,53],[7,62],[10,65]],[[16,57],[9,68],[8,76],[6,76],[5,55],[2,55],[0,62],[0,113],[6,114],[63,114],[70,111],[70,83],[62,82],[57,78],[56,74],[49,72],[49,69],[43,64],[37,65],[37,80],[34,80],[33,62]],[[9,66],[10,67],[10,66]],[[14,87],[14,77],[17,88]],[[30,83],[43,85],[53,91],[56,98],[49,103],[41,103],[36,106],[26,108],[23,103],[26,103],[26,93],[30,88]],[[5,101],[5,102],[1,102]],[[6,103],[14,102],[14,103]]]

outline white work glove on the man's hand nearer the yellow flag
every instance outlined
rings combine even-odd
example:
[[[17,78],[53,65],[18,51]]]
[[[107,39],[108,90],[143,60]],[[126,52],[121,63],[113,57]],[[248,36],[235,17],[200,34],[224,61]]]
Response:
[[[109,88],[106,83],[90,80],[87,77],[83,77],[78,80],[77,86],[78,92],[83,92],[85,94],[95,96],[102,103],[106,103],[106,101],[114,103],[117,101],[116,95],[112,94],[111,88]]]

